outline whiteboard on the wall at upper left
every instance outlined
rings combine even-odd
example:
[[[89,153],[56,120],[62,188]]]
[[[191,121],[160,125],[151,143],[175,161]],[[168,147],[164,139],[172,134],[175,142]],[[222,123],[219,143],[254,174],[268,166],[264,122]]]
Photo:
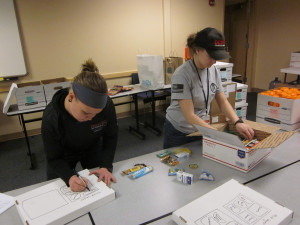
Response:
[[[0,78],[26,74],[14,0],[0,0]]]

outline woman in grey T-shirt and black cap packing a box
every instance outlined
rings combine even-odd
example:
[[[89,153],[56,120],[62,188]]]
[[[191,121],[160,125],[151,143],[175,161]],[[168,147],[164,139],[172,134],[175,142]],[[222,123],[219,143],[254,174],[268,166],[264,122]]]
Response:
[[[196,131],[193,124],[214,129],[208,124],[213,98],[226,117],[235,124],[237,131],[251,140],[254,131],[236,115],[223,92],[221,77],[213,65],[216,60],[230,58],[225,51],[224,35],[208,27],[190,35],[187,46],[192,59],[178,67],[171,80],[171,104],[166,115],[164,148],[199,140],[200,137],[187,137]]]

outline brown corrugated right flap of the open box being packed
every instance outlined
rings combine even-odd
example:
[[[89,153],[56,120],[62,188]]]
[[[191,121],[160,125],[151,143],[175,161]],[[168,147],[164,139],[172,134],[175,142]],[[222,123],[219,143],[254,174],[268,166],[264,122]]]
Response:
[[[282,142],[290,138],[296,131],[289,131],[289,132],[281,132],[277,134],[272,134],[269,137],[262,140],[260,143],[255,145],[252,149],[259,149],[259,148],[275,148],[280,145]]]

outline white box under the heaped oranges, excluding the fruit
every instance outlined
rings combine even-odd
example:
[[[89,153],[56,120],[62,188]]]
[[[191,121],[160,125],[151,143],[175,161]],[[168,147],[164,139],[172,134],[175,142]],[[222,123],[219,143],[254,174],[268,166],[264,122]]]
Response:
[[[257,95],[256,121],[276,125],[283,130],[300,127],[300,99]]]

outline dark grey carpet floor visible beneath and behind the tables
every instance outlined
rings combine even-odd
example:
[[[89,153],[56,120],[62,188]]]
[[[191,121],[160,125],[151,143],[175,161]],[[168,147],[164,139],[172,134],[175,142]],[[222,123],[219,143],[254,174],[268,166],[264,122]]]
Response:
[[[256,114],[256,93],[248,93],[247,119],[255,121]],[[141,116],[141,120],[151,118],[150,115]],[[165,114],[156,113],[156,125],[163,132]],[[129,133],[128,127],[135,125],[133,117],[118,120],[119,140],[116,149],[114,162],[144,155],[162,149],[163,133],[157,136],[152,130],[140,126],[141,131],[146,135],[145,140],[139,139]],[[35,155],[36,169],[31,170],[30,161],[26,155],[27,146],[25,138],[0,143],[0,192],[6,192],[28,185],[46,181],[46,162],[43,152],[41,135],[29,138],[31,151]]]

